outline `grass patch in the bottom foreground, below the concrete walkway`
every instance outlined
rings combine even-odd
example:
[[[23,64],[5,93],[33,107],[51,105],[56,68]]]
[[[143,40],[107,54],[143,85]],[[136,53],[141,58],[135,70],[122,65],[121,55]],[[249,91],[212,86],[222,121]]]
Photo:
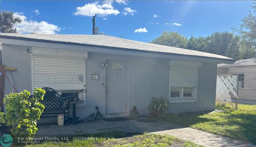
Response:
[[[114,136],[116,134],[125,134],[125,132],[109,132]],[[88,135],[84,135],[88,136]],[[112,147],[203,147],[190,141],[183,141],[171,135],[147,134],[134,135],[125,138],[105,138],[102,135],[87,140],[72,140],[61,143],[43,143],[31,144],[26,147],[96,147],[96,146],[112,146]],[[101,136],[101,137],[97,137]],[[109,134],[108,134],[109,136]]]

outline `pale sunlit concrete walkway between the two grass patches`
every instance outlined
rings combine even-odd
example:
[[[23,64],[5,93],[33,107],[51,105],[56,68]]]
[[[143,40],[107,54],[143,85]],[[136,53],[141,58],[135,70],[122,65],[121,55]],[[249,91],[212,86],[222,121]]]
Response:
[[[246,143],[244,141],[239,141],[220,135],[213,135],[193,128],[177,128],[152,133],[173,135],[177,138],[192,141],[206,147],[256,147],[251,143]]]

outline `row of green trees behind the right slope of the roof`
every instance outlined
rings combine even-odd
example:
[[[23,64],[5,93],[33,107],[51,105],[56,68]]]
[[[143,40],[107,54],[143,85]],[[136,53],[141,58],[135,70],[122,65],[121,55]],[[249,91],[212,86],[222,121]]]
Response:
[[[195,38],[191,36],[189,40],[177,32],[164,31],[151,43],[204,51],[218,55],[227,54],[227,57],[239,59],[239,41],[239,36],[227,31],[216,32],[207,37],[200,36]]]

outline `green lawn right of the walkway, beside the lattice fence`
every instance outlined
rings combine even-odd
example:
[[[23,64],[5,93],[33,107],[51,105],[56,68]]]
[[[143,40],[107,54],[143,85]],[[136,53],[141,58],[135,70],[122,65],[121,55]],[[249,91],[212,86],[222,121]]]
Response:
[[[225,112],[210,114],[166,114],[157,117],[182,126],[256,144],[256,105],[238,104],[234,110],[216,106]]]

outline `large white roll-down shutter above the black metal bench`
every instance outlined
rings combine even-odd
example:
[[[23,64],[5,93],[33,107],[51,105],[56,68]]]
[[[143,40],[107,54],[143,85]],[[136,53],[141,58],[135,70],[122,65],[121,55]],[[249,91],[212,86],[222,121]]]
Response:
[[[34,88],[49,87],[54,90],[84,89],[84,59],[33,57]],[[85,80],[85,78],[84,78]]]

